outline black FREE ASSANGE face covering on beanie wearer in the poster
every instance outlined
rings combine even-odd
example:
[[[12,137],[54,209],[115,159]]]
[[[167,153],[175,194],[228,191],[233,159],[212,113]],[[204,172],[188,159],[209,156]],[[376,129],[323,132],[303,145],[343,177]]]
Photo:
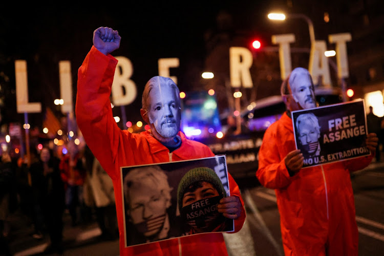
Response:
[[[218,222],[219,217],[222,216],[217,210],[220,199],[220,196],[211,197],[184,206],[180,212],[184,223],[194,229],[211,231],[211,229],[215,228],[214,224]]]

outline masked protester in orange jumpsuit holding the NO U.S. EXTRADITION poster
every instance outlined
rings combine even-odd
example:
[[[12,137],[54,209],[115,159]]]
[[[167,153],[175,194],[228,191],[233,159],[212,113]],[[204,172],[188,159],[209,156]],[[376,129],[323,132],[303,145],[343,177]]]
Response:
[[[368,134],[370,156],[305,169],[295,150],[291,111],[316,107],[308,70],[294,69],[282,84],[287,111],[265,132],[259,151],[260,183],[275,189],[286,255],[357,255],[358,231],[350,172],[372,160],[377,136]]]

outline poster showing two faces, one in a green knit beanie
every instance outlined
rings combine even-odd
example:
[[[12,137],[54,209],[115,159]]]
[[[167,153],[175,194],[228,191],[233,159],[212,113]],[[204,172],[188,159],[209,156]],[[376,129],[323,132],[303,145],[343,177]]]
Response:
[[[225,155],[120,169],[125,247],[234,231],[217,209],[230,196]]]

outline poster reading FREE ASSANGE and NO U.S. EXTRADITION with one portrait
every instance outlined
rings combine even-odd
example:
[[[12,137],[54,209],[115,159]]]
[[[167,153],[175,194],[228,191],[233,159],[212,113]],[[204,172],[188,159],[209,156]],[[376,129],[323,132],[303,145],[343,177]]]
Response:
[[[305,167],[367,156],[363,99],[292,111],[296,148]]]

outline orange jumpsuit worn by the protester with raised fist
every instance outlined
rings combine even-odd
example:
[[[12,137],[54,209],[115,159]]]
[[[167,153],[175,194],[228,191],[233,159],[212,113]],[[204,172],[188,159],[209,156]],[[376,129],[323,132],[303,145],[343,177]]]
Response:
[[[84,139],[92,153],[113,180],[117,220],[120,233],[121,255],[227,255],[222,233],[197,234],[150,244],[124,247],[124,224],[121,193],[121,166],[162,163],[211,157],[209,147],[188,140],[183,133],[181,146],[169,150],[149,132],[131,134],[117,126],[112,115],[110,94],[117,59],[105,56],[92,47],[78,70],[76,119]],[[230,194],[240,195],[240,189],[228,174]],[[245,210],[234,221],[235,232],[245,220]]]

